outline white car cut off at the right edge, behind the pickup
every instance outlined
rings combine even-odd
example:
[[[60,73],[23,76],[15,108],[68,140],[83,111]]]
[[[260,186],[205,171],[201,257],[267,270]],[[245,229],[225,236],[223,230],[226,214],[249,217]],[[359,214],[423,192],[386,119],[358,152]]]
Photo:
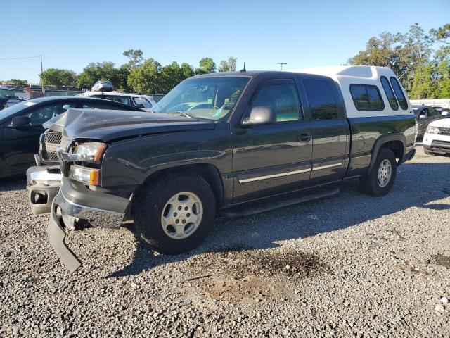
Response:
[[[450,154],[450,118],[430,123],[423,136],[425,154]]]

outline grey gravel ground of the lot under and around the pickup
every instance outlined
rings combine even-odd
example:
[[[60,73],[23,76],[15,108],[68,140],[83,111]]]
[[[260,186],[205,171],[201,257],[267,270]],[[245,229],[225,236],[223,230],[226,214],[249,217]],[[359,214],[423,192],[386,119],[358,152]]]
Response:
[[[0,181],[0,337],[449,337],[450,157],[323,201],[218,220],[198,249],[158,255],[132,223],[68,242],[68,273],[24,180]]]

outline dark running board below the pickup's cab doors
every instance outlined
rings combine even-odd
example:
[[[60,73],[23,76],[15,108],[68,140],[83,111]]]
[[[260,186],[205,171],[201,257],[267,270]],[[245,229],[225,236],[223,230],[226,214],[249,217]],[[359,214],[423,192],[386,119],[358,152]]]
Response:
[[[239,218],[250,215],[256,215],[257,213],[265,213],[278,208],[284,208],[285,206],[294,206],[309,201],[317,201],[319,199],[327,199],[339,194],[340,189],[333,187],[331,189],[322,190],[312,194],[307,194],[300,197],[280,198],[272,197],[270,200],[251,202],[251,204],[245,204],[244,206],[238,206],[235,208],[227,208],[219,211],[219,216],[225,218]]]

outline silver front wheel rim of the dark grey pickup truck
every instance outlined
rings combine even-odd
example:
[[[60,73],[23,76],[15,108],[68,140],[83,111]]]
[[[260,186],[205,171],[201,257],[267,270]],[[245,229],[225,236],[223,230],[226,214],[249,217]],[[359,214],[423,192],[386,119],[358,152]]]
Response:
[[[203,204],[193,192],[174,194],[161,213],[161,226],[172,239],[185,239],[197,229],[203,218]]]

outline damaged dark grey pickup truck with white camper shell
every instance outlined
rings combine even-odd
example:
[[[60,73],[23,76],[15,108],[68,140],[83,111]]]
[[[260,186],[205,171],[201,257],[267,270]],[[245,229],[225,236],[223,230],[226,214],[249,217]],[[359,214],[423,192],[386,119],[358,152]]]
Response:
[[[44,127],[65,140],[48,237],[70,271],[81,265],[64,242],[70,219],[134,220],[151,248],[182,253],[219,211],[243,204],[293,192],[304,201],[355,178],[387,194],[417,132],[397,77],[373,66],[199,75],[152,112],[70,109]]]

